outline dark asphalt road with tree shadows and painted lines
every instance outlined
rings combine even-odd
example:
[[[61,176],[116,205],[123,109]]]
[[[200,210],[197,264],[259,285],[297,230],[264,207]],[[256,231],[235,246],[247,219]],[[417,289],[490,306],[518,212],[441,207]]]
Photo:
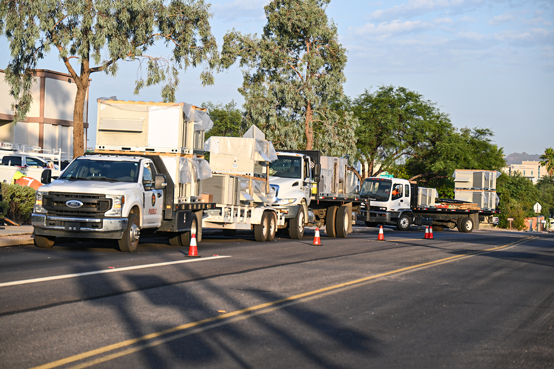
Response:
[[[1,248],[0,367],[554,367],[552,235],[310,233]]]

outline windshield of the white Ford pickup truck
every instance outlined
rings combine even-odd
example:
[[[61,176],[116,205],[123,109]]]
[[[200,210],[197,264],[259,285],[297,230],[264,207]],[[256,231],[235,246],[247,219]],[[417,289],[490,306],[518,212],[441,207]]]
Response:
[[[60,179],[136,182],[139,168],[139,163],[136,162],[77,159],[65,168]]]

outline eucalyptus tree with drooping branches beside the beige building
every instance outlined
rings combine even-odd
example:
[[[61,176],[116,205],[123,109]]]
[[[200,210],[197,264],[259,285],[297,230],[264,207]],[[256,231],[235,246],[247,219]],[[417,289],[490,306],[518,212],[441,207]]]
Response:
[[[0,2],[0,33],[6,35],[11,59],[6,80],[17,110],[14,124],[29,112],[33,70],[50,50],[57,50],[77,92],[73,111],[73,155],[84,153],[83,111],[89,77],[115,76],[120,61],[146,63],[146,80],[136,80],[135,94],[161,84],[163,101],[175,101],[178,70],[204,65],[203,85],[213,84],[219,63],[216,39],[203,0],[6,0]],[[147,54],[157,42],[171,56]],[[75,60],[72,60],[75,59]]]

